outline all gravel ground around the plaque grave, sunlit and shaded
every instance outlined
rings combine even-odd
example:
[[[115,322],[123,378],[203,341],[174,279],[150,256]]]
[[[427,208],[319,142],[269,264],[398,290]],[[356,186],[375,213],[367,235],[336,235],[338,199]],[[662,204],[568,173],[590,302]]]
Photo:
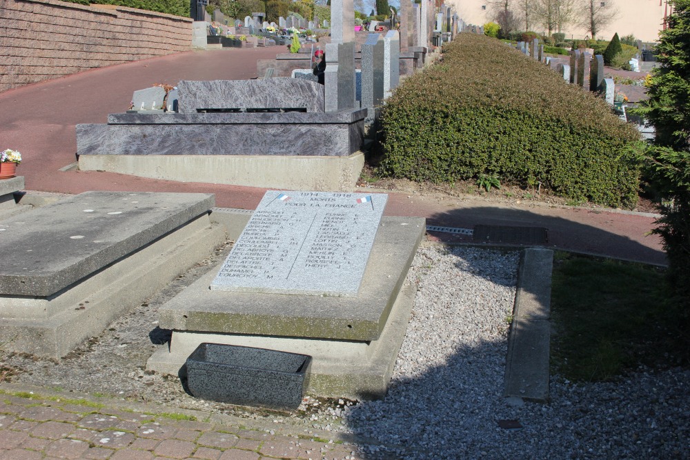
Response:
[[[157,309],[229,250],[201,261],[66,359],[3,354],[12,381],[353,434],[366,459],[687,459],[690,371],[640,368],[613,383],[551,379],[551,403],[502,397],[519,252],[420,248],[408,274],[413,316],[380,401],[306,399],[280,413],[191,397],[179,379],[146,372],[166,346]],[[517,421],[518,430],[499,421]]]

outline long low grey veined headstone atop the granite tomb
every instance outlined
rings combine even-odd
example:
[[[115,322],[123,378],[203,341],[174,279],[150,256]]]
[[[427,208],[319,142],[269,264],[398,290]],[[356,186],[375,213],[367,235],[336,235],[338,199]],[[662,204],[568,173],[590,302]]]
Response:
[[[324,86],[289,77],[177,83],[180,113],[204,109],[303,108],[324,111]]]

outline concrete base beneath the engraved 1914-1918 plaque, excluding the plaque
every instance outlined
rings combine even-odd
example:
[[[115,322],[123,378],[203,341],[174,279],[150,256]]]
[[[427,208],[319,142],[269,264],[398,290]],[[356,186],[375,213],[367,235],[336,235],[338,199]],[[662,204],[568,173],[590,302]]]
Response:
[[[311,394],[382,397],[411,314],[415,288],[404,281],[424,232],[424,219],[383,217],[356,297],[210,290],[219,264],[161,308],[170,349],[147,368],[184,376],[204,342],[270,348],[313,357]]]

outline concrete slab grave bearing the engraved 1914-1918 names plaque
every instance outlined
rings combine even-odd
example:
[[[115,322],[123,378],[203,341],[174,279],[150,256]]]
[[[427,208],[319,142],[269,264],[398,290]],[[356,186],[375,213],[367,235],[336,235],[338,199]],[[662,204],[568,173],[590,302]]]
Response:
[[[239,255],[230,254],[228,261],[244,262],[246,268],[239,270],[248,277],[273,276],[269,281],[275,283],[274,292],[263,286],[233,292],[214,289],[216,275],[228,267],[227,261],[219,264],[161,308],[161,328],[172,329],[170,350],[154,354],[149,370],[184,377],[186,358],[200,343],[226,343],[313,357],[308,383],[312,394],[371,398],[386,393],[413,305],[413,286],[404,287],[404,280],[425,232],[424,219],[380,217],[385,195],[312,193],[268,191],[251,221],[246,213],[214,213],[219,221],[231,216],[233,222],[247,219],[237,243]],[[247,246],[243,240],[249,238]],[[366,250],[370,238],[371,250]],[[290,293],[305,290],[296,284],[286,288],[286,270],[275,263],[287,263],[289,271],[290,261],[297,261],[301,253],[334,257],[318,259],[328,262],[316,265],[337,262],[340,268],[302,272],[292,282],[311,278],[305,282],[317,288]],[[344,270],[346,263],[349,268]],[[307,264],[304,259],[294,267]],[[263,270],[274,266],[272,274]],[[358,281],[339,274],[359,273],[362,268]],[[290,277],[287,274],[288,281]],[[334,294],[315,295],[326,290]]]

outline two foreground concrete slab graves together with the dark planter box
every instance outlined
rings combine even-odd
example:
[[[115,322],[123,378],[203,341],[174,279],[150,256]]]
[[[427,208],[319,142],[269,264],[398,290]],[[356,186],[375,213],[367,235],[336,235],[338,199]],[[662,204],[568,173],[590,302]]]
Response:
[[[213,194],[86,192],[1,219],[3,348],[64,357],[230,239],[227,259],[160,307],[172,339],[147,369],[245,405],[382,397],[425,232],[422,218],[382,217],[387,198],[269,190],[252,213],[213,208]]]

